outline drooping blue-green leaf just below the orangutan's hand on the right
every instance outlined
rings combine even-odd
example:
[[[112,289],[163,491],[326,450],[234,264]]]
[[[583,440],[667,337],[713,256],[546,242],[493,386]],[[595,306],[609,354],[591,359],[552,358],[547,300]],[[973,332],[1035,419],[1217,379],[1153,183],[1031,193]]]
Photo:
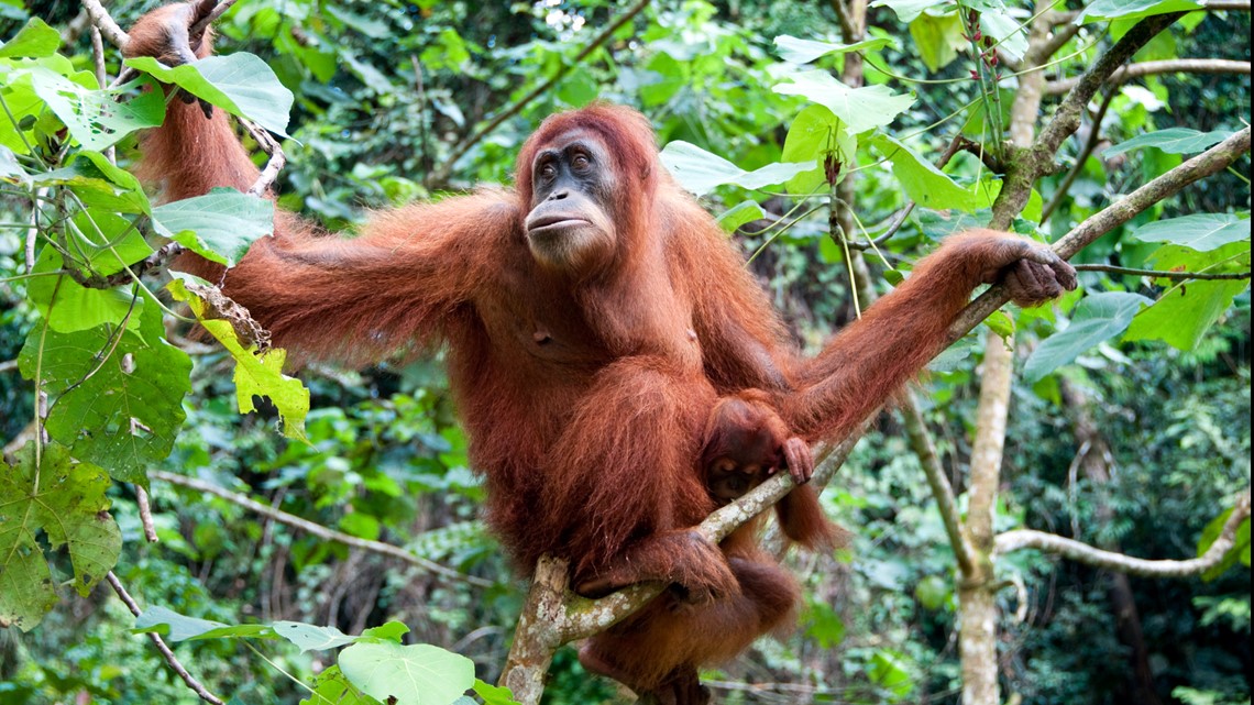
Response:
[[[1146,304],[1150,304],[1149,299],[1122,291],[1081,299],[1071,316],[1071,325],[1045,339],[1032,351],[1023,365],[1023,380],[1033,384],[1099,342],[1124,332]]]

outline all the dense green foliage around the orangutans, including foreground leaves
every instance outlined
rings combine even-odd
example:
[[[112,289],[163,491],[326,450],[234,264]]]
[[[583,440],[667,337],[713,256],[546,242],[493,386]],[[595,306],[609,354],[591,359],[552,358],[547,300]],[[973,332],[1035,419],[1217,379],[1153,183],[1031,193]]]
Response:
[[[114,5],[124,28],[155,4]],[[281,351],[258,352],[223,321],[209,320],[208,336],[192,330],[213,317],[212,286],[171,280],[161,265],[127,276],[169,238],[233,262],[272,213],[233,192],[149,199],[124,167],[164,108],[139,84],[178,83],[288,134],[280,206],[336,231],[369,208],[508,182],[522,139],[554,110],[635,105],[809,347],[865,304],[850,286],[859,252],[883,292],[935,241],[988,222],[1003,188],[988,164],[1007,158],[1017,83],[1004,64],[1027,46],[1026,4],[875,3],[856,48],[868,83],[858,92],[833,78],[851,54],[828,4],[657,0],[584,55],[635,5],[242,0],[216,25],[231,63],[218,73],[137,64],[138,84],[107,92],[76,3],[0,0],[0,702],[198,701],[137,626],[166,633],[232,702],[371,702],[361,674],[379,664],[439,676],[415,682],[425,695],[411,702],[448,705],[472,686],[479,700],[508,702],[487,684],[505,662],[525,585],[479,521],[482,480],[439,360],[312,364],[301,386],[281,371]],[[1047,75],[1078,75],[1141,16],[1191,8],[1097,0]],[[1006,50],[1001,64],[973,55],[971,11]],[[1135,60],[1248,61],[1249,21],[1248,11],[1190,13]],[[119,54],[105,58],[117,75]],[[1063,144],[1062,168],[1035,183],[1014,230],[1055,241],[1240,130],[1249,88],[1248,69],[1112,87]],[[1047,97],[1042,124],[1060,97]],[[973,147],[935,168],[958,137]],[[1022,373],[998,529],[1183,559],[1248,492],[1248,168],[1246,156],[1075,260],[1244,278],[1088,271],[1056,306],[989,319],[1014,330]],[[858,232],[829,218],[844,178],[856,179]],[[917,207],[895,230],[907,203]],[[922,381],[961,501],[981,356],[969,335]],[[40,395],[46,438],[33,424]],[[1090,443],[1077,438],[1081,410],[1109,447],[1104,480],[1077,472]],[[142,493],[155,543],[144,539]],[[806,583],[800,628],[711,674],[719,701],[956,702],[954,556],[895,416],[880,419],[823,498],[855,538],[790,557]],[[1110,573],[1038,552],[1002,557],[1004,692],[1130,701],[1142,652],[1162,702],[1249,702],[1248,521],[1243,536],[1229,570],[1131,580],[1140,651]],[[138,625],[102,585],[110,570],[144,610]],[[558,652],[545,702],[621,701],[572,649]]]

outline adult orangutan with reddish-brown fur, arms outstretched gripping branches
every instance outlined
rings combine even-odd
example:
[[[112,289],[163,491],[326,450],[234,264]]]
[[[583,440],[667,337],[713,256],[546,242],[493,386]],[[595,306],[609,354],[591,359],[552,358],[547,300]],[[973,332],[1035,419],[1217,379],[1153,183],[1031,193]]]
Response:
[[[145,15],[128,54],[207,55],[207,40],[188,38],[192,15],[189,5]],[[172,100],[143,152],[142,176],[166,199],[245,189],[257,176],[226,115],[194,103]],[[1004,281],[1021,304],[1075,286],[1046,247],[958,236],[801,359],[739,253],[660,168],[648,122],[606,104],[544,120],[512,189],[376,213],[354,240],[321,237],[288,213],[275,225],[224,278],[202,260],[179,265],[222,281],[305,358],[367,363],[446,345],[488,522],[520,570],[551,553],[571,561],[586,595],[673,586],[581,654],[673,705],[706,702],[696,669],[780,625],[798,592],[746,532],[720,548],[690,531],[726,498],[707,478],[717,460],[702,459],[707,442],[766,423],[766,450],[732,440],[731,467],[805,464],[805,444],[846,434],[918,373],[978,284]],[[750,420],[725,413],[737,398],[756,404]],[[794,494],[785,527],[821,541],[830,528],[814,493]]]

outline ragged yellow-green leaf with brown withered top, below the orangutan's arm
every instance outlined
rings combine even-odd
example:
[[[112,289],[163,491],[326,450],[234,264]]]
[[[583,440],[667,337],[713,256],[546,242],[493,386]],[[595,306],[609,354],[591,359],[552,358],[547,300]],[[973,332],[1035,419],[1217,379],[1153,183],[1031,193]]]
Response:
[[[233,324],[247,326],[252,324],[246,317],[246,312],[237,310],[224,310],[228,304],[233,304],[221,295],[214,287],[198,285],[187,281],[184,277],[176,277],[169,282],[169,291],[177,301],[186,301],[196,319],[216,337],[227,352],[234,358],[234,384],[236,403],[241,414],[248,414],[257,408],[252,398],[266,396],[278,409],[278,416],[283,423],[283,435],[287,438],[305,438],[305,416],[310,410],[310,391],[305,389],[301,380],[283,374],[283,361],[287,351],[281,347],[271,347],[265,352],[257,350],[255,344],[247,347],[240,341]],[[212,317],[207,317],[211,297],[222,299],[214,301]],[[236,320],[223,320],[222,316],[234,316]],[[256,325],[256,324],[253,324]]]

